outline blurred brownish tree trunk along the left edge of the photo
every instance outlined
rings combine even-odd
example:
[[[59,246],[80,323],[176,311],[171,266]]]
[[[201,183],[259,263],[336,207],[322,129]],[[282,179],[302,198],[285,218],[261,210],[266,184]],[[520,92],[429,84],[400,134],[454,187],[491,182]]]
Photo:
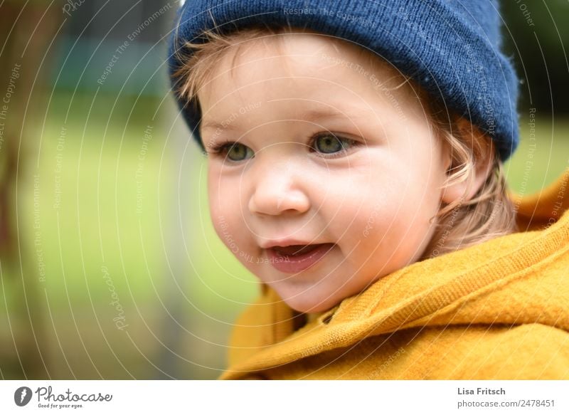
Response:
[[[63,19],[58,1],[0,2],[0,276],[4,308],[0,315],[0,377],[48,377],[42,341],[43,295],[38,269],[29,266],[16,233],[16,189],[26,167],[26,153],[36,147],[38,119],[46,100],[50,43]],[[53,48],[53,45],[51,46]],[[23,258],[24,256],[24,258]],[[6,313],[4,315],[4,312]]]

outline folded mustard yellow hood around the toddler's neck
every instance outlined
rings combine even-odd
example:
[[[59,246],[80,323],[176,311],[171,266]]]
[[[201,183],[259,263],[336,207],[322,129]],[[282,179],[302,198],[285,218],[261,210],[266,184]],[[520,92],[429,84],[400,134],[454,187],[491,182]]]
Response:
[[[266,286],[236,323],[222,379],[411,327],[538,323],[569,332],[569,169],[511,194],[519,232],[386,275],[295,330],[302,315]]]

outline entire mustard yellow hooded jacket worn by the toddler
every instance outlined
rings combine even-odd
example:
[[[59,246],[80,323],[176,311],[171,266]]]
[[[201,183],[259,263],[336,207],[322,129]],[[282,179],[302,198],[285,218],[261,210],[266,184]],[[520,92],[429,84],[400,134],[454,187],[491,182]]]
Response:
[[[569,379],[569,169],[520,231],[414,263],[299,327],[263,286],[220,379]]]

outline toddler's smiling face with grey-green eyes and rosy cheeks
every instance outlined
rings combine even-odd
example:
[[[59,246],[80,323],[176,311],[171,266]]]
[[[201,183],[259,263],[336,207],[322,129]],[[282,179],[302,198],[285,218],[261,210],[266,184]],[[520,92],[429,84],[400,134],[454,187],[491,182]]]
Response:
[[[208,155],[211,219],[262,282],[318,312],[418,261],[449,159],[410,87],[378,88],[401,82],[385,63],[324,36],[283,45],[247,44],[198,93],[207,151],[239,143]],[[314,250],[270,248],[289,245]]]

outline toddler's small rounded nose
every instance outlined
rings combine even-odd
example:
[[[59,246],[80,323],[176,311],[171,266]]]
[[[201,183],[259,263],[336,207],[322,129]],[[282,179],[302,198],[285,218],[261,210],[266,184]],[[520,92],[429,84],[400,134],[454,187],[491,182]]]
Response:
[[[310,209],[309,196],[303,189],[302,171],[299,172],[298,166],[286,160],[275,162],[267,158],[262,165],[255,167],[248,206],[252,214],[304,213]]]

